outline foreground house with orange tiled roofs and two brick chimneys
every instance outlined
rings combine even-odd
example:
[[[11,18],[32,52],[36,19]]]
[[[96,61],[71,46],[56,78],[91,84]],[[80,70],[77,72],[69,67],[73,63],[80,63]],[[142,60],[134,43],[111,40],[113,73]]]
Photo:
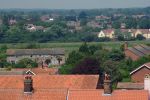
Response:
[[[0,100],[148,100],[147,90],[96,89],[98,75],[0,76]]]

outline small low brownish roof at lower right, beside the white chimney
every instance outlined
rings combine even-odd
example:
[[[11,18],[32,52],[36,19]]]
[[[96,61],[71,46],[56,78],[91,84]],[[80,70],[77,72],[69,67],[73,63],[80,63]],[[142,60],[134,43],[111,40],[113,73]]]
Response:
[[[117,84],[117,89],[143,90],[144,83],[119,82]]]

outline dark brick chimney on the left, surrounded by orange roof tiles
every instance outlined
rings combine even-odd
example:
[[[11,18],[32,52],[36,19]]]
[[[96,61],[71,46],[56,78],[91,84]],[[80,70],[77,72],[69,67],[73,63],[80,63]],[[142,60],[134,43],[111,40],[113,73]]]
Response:
[[[24,79],[24,93],[33,92],[33,80],[31,76],[25,76]]]

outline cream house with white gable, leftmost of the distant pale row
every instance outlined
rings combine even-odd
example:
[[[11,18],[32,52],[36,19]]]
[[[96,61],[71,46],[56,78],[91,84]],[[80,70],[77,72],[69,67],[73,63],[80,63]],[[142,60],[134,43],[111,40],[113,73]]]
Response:
[[[110,39],[114,38],[115,31],[114,29],[106,29],[106,30],[101,30],[100,33],[98,34],[99,38],[103,37],[108,37]]]

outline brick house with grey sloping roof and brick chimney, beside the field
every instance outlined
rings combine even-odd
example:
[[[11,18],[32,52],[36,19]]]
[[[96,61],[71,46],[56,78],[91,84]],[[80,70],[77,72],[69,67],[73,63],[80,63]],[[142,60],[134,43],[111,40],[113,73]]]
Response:
[[[128,47],[128,43],[126,42],[124,44],[124,53],[127,58],[135,61],[143,56],[150,55],[150,47],[144,44]]]

